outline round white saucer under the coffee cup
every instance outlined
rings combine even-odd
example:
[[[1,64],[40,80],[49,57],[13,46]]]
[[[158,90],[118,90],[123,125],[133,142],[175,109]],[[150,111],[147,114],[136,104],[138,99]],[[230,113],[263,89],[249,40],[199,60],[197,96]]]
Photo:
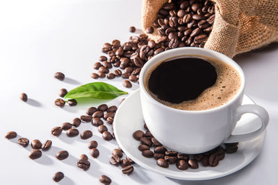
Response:
[[[244,96],[243,104],[254,104],[254,102],[247,96]],[[241,133],[240,130],[246,130],[245,126],[249,122],[252,122],[254,127],[259,128],[261,125],[261,121],[257,116],[245,114],[238,122],[233,133],[237,134]],[[136,130],[145,130],[143,127],[144,118],[142,116],[139,89],[126,98],[117,109],[113,125],[117,143],[124,153],[133,159],[136,164],[156,173],[161,173],[166,177],[184,180],[215,179],[235,173],[247,166],[247,164],[250,164],[250,162],[259,155],[266,135],[266,132],[263,132],[263,134],[257,136],[255,139],[239,143],[238,151],[234,154],[227,154],[216,167],[204,167],[201,164],[197,169],[188,168],[188,170],[179,170],[174,164],[170,165],[169,168],[161,168],[156,165],[156,160],[154,158],[143,157],[138,150],[140,142],[133,139],[132,134]]]

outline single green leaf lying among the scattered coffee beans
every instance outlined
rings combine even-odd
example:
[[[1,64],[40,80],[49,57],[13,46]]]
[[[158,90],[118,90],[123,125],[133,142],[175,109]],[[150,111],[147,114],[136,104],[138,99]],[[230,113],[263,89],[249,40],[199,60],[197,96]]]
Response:
[[[76,98],[97,98],[103,100],[110,100],[117,98],[117,96],[122,96],[123,94],[128,94],[125,91],[121,91],[104,82],[92,82],[85,85],[81,85],[67,92],[65,99],[76,99]]]

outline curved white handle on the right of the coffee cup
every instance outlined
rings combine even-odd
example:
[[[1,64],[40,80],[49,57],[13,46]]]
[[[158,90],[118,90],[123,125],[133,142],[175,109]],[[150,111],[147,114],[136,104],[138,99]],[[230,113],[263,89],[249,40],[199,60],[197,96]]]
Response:
[[[254,139],[256,136],[259,136],[259,134],[263,133],[265,128],[268,126],[269,116],[268,112],[259,105],[240,105],[236,109],[236,121],[240,120],[240,117],[245,113],[252,113],[256,114],[261,118],[261,127],[258,130],[255,130],[254,132],[246,133],[246,134],[236,134],[229,136],[224,143],[237,143],[240,141],[247,141],[250,139]],[[251,123],[250,123],[251,124]],[[247,131],[248,132],[248,131]]]

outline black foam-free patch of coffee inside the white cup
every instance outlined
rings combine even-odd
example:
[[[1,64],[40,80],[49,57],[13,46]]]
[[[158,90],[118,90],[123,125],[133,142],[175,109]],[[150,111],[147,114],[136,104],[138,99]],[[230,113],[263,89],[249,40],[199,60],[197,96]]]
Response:
[[[215,84],[217,73],[210,62],[201,58],[175,58],[159,64],[147,82],[157,98],[169,103],[195,100]]]

